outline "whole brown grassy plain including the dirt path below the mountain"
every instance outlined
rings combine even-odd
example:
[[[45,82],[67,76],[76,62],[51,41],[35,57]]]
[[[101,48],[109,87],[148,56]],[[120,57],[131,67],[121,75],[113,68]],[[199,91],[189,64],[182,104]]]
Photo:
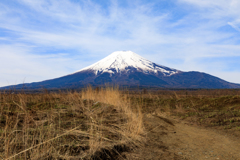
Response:
[[[239,90],[0,94],[4,160],[235,160],[239,142]]]

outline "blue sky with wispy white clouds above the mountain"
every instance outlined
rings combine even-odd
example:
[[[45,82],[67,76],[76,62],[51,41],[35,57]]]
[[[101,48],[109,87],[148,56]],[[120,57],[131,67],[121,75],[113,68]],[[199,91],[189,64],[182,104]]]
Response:
[[[118,50],[240,83],[239,0],[1,0],[0,86],[80,70]]]

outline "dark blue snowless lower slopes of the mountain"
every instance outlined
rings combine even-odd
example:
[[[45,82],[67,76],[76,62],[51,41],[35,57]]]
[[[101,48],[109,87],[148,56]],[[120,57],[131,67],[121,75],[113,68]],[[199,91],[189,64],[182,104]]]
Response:
[[[161,88],[240,88],[239,84],[233,84],[217,77],[200,72],[181,72],[172,76],[151,75],[142,72],[122,73],[111,76],[109,73],[95,75],[93,72],[84,71],[64,77],[46,80],[43,82],[24,84],[27,89],[40,88],[82,88],[87,85],[100,86],[104,84],[119,86],[146,86]],[[23,84],[12,86],[14,89],[22,89]],[[7,89],[9,87],[6,87]],[[4,88],[3,88],[4,89]]]

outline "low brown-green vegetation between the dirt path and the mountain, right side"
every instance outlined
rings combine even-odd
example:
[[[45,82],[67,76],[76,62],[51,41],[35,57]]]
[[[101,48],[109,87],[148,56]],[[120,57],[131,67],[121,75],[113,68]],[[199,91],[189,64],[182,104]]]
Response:
[[[240,90],[158,91],[131,95],[131,100],[142,101],[144,113],[240,135]]]

